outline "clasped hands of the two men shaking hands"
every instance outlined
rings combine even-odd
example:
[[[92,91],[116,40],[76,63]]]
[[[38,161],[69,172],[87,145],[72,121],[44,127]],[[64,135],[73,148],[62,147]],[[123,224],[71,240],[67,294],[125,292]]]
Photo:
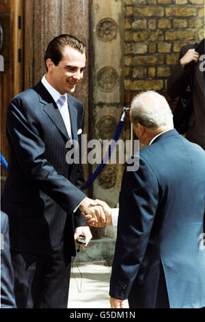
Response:
[[[112,225],[112,210],[107,203],[102,200],[93,200],[85,197],[79,206],[79,210],[90,226],[105,227],[107,225]]]

